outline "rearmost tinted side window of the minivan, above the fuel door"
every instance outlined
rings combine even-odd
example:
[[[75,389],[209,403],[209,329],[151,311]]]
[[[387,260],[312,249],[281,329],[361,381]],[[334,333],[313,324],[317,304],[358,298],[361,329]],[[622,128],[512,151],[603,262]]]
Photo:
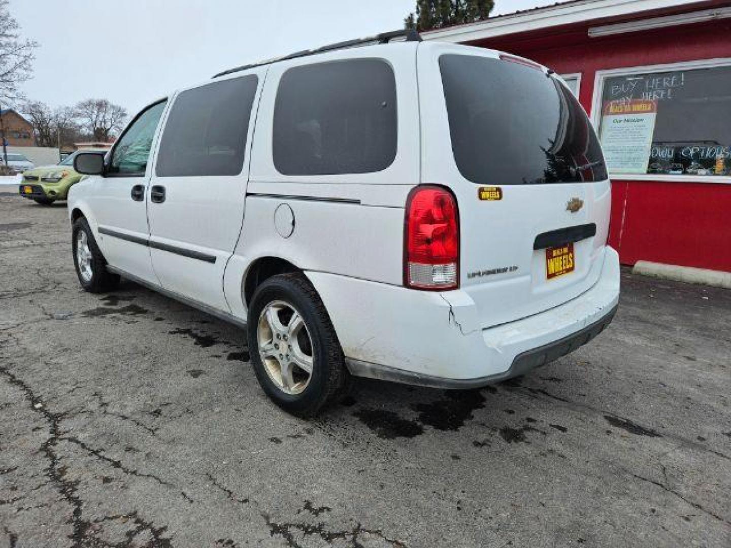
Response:
[[[273,156],[284,175],[385,170],[397,134],[396,83],[385,61],[298,66],[281,77]]]

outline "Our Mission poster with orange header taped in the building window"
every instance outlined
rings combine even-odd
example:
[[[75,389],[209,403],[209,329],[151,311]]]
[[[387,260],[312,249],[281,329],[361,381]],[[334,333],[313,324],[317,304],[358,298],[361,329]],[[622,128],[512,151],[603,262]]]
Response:
[[[612,173],[645,173],[655,132],[657,101],[621,99],[605,103],[601,140]]]

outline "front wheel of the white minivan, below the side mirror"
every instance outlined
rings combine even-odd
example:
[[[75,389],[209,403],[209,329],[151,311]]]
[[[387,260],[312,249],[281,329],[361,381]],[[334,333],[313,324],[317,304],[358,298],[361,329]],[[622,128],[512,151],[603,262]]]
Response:
[[[118,286],[119,276],[107,270],[107,261],[96,245],[86,218],[80,217],[74,222],[72,251],[76,275],[84,291],[105,293]]]

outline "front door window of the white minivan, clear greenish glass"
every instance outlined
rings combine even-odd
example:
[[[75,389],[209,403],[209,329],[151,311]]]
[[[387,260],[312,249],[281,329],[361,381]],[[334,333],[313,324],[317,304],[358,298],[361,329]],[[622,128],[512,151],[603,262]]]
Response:
[[[148,107],[117,142],[109,162],[109,173],[145,175],[150,148],[166,101]]]

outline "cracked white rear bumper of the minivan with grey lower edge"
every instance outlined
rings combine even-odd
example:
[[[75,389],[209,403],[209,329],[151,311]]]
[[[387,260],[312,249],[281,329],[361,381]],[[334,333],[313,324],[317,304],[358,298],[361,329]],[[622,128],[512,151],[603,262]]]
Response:
[[[469,388],[522,375],[598,335],[616,311],[620,270],[616,251],[606,248],[599,280],[583,294],[534,316],[468,332],[455,321],[455,308],[470,306],[463,292],[416,292],[322,273],[308,277],[352,374]]]

